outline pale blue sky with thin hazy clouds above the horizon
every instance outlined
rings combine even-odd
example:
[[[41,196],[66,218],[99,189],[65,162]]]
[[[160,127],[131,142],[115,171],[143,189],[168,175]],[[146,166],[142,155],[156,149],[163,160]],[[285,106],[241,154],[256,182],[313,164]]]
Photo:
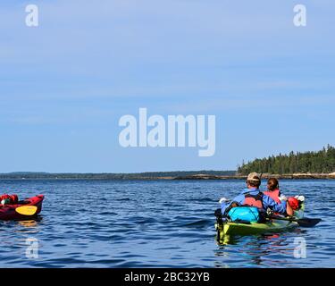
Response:
[[[331,0],[1,3],[0,172],[226,170],[335,144],[334,13]],[[119,118],[139,107],[216,115],[215,155],[120,147]]]

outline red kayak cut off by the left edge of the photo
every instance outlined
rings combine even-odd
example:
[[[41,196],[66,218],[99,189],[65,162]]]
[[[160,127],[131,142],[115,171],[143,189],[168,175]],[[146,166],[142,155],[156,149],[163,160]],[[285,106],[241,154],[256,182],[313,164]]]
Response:
[[[43,195],[38,195],[36,197],[21,200],[16,205],[0,205],[0,220],[9,221],[31,219],[41,212],[43,199]],[[21,206],[37,206],[38,209],[35,214],[32,215],[19,214],[17,209]]]

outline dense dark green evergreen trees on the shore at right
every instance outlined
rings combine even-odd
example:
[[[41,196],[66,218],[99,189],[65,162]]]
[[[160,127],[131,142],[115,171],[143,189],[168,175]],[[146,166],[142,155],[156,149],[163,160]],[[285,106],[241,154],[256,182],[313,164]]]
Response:
[[[331,173],[335,172],[335,147],[328,145],[320,151],[290,152],[289,155],[269,156],[263,159],[243,163],[238,173],[267,172],[272,174],[288,174],[297,172]]]

